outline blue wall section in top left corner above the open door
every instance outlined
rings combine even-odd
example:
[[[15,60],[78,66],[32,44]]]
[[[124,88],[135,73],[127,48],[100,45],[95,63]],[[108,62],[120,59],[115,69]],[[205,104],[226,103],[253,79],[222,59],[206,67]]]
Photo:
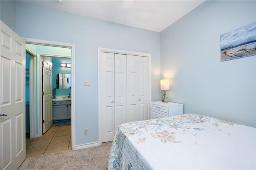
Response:
[[[0,0],[0,19],[15,31],[15,0]]]

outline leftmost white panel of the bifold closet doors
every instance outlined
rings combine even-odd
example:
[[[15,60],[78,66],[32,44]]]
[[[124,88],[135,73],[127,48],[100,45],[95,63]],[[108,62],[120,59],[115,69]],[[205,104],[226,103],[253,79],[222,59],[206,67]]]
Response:
[[[112,141],[115,135],[115,56],[102,53],[102,142]]]

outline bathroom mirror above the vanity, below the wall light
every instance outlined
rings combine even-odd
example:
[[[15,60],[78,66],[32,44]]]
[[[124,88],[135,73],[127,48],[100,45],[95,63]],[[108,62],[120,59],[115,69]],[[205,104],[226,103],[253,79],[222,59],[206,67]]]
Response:
[[[56,79],[57,88],[71,88],[71,74],[68,73],[59,73],[57,74]]]

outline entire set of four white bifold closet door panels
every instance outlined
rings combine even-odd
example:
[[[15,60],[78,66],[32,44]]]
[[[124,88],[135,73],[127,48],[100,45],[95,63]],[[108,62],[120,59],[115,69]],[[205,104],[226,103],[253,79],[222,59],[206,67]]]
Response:
[[[112,141],[118,126],[149,119],[148,58],[101,53],[102,142]]]

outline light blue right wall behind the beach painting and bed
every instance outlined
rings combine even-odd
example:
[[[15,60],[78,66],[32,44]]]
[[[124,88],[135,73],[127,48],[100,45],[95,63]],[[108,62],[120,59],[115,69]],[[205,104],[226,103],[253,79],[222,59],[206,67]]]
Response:
[[[256,126],[256,57],[220,61],[220,35],[256,21],[256,1],[206,1],[160,33],[169,100],[199,113]]]

